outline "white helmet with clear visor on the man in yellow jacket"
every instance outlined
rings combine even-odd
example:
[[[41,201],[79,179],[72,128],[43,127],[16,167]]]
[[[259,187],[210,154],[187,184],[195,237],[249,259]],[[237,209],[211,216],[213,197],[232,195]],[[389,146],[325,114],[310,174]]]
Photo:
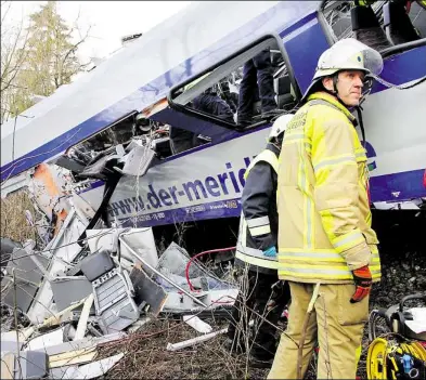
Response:
[[[383,70],[383,58],[376,50],[354,38],[346,38],[336,42],[321,54],[312,82],[305,92],[302,101],[320,79],[340,70],[362,70],[366,75],[379,75]]]

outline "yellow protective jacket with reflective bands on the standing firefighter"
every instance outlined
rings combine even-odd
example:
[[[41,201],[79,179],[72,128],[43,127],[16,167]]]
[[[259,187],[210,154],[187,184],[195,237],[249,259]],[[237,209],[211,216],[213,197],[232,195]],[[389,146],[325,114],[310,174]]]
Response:
[[[371,228],[366,154],[354,117],[317,92],[288,123],[279,159],[279,277],[348,284],[370,264],[380,278]]]

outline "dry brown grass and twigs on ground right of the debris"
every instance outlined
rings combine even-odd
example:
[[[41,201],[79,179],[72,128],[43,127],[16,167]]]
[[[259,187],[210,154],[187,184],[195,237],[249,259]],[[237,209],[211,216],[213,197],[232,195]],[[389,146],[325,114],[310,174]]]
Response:
[[[215,326],[214,324],[211,324]],[[227,326],[217,324],[215,330]],[[162,331],[160,333],[156,333]],[[186,324],[155,320],[130,339],[105,345],[100,357],[126,352],[124,358],[106,375],[106,379],[264,379],[267,369],[247,368],[246,355],[230,355],[223,348],[224,336],[193,348],[170,352],[167,343],[199,336]]]

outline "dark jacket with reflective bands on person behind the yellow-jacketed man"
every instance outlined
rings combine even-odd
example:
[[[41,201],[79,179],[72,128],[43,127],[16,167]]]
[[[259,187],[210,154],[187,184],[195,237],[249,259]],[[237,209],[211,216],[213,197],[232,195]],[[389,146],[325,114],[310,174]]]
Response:
[[[263,250],[276,247],[277,240],[277,155],[279,149],[268,144],[246,170],[235,253],[236,259],[250,264],[250,270],[275,274],[277,259],[263,255]]]

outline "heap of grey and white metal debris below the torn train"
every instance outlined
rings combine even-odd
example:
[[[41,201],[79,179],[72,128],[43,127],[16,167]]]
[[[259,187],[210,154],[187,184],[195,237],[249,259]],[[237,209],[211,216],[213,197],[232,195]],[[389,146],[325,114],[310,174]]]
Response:
[[[163,319],[196,333],[167,339],[172,353],[227,331],[203,320],[232,307],[238,290],[227,273],[219,277],[176,243],[158,254],[152,228],[88,224],[74,204],[42,250],[34,240],[2,241],[2,379],[98,378],[126,356],[137,331]],[[108,344],[121,350],[100,354]]]

